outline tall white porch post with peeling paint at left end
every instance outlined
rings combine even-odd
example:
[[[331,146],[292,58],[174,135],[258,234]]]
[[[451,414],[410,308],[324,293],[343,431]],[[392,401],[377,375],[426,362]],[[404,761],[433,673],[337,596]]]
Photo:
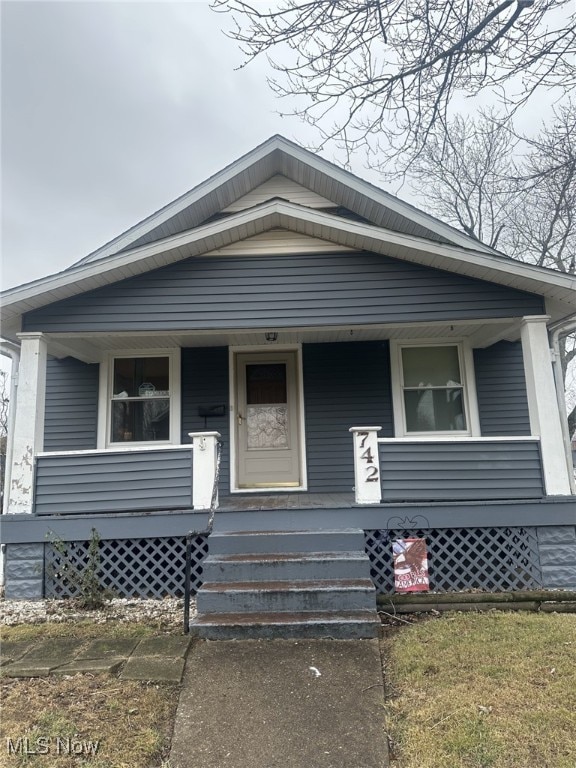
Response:
[[[11,514],[33,511],[34,456],[44,446],[46,341],[41,333],[19,333],[20,369],[8,488]]]

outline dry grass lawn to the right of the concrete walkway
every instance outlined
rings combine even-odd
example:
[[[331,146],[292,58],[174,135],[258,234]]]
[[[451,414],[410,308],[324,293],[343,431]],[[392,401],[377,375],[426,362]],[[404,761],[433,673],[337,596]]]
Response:
[[[398,768],[576,768],[576,616],[464,613],[385,641]]]

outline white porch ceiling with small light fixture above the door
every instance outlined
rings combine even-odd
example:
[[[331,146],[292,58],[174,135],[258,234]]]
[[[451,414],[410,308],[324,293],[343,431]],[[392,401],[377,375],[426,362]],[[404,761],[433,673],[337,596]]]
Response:
[[[78,333],[46,334],[48,352],[54,357],[72,356],[87,363],[100,362],[107,352],[170,349],[178,347],[262,346],[267,349],[299,343],[385,341],[387,339],[470,339],[474,347],[486,347],[502,339],[519,337],[520,318],[482,322],[410,323],[354,327],[294,328],[278,331],[276,342],[264,332],[230,330],[183,333]],[[270,331],[276,329],[271,326]]]

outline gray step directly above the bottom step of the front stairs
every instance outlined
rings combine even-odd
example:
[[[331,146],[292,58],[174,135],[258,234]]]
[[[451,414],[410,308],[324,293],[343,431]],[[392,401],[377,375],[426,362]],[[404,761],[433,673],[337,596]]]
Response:
[[[199,613],[375,610],[370,579],[204,582]]]

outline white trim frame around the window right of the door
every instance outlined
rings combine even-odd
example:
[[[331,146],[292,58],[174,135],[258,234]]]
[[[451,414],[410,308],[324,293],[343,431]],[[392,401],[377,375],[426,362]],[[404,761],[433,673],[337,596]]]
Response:
[[[462,373],[462,391],[468,429],[442,432],[408,432],[404,411],[402,349],[406,347],[446,347],[458,349],[458,359]],[[450,440],[455,437],[480,437],[480,416],[478,413],[478,395],[474,373],[474,356],[466,339],[411,339],[410,341],[390,341],[390,371],[392,379],[392,407],[394,413],[394,435],[397,438],[421,438]]]

